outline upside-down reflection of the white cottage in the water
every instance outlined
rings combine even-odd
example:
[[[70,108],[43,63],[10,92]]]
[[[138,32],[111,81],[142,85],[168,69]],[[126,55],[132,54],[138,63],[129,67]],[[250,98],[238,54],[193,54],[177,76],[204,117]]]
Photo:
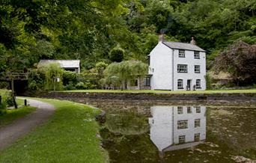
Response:
[[[151,107],[150,139],[160,152],[195,147],[206,139],[204,106]]]

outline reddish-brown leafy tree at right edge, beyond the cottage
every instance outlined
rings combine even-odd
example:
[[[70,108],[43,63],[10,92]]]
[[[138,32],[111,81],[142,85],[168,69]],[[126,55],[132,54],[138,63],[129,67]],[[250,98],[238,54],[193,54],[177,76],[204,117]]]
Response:
[[[250,46],[243,41],[228,46],[216,58],[216,72],[231,73],[237,84],[256,83],[256,44]]]

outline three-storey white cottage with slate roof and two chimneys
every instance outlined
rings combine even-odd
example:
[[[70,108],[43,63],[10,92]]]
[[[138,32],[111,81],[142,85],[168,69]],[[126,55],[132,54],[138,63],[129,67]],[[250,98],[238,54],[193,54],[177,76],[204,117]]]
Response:
[[[149,75],[152,90],[205,90],[206,55],[191,43],[164,41],[150,52]]]

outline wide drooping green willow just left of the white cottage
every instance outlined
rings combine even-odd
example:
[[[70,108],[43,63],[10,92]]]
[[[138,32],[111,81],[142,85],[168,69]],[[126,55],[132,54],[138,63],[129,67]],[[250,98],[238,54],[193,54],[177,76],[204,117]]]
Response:
[[[147,74],[147,64],[141,61],[122,61],[110,64],[104,74],[105,82],[114,85],[121,83],[121,90],[127,87],[127,82],[135,78],[141,78]]]

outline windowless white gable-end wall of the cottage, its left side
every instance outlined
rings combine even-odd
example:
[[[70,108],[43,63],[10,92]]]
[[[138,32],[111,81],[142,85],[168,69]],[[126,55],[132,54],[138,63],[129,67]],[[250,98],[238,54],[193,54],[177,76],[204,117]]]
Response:
[[[162,42],[150,52],[150,79],[152,90],[172,90],[172,49]]]

